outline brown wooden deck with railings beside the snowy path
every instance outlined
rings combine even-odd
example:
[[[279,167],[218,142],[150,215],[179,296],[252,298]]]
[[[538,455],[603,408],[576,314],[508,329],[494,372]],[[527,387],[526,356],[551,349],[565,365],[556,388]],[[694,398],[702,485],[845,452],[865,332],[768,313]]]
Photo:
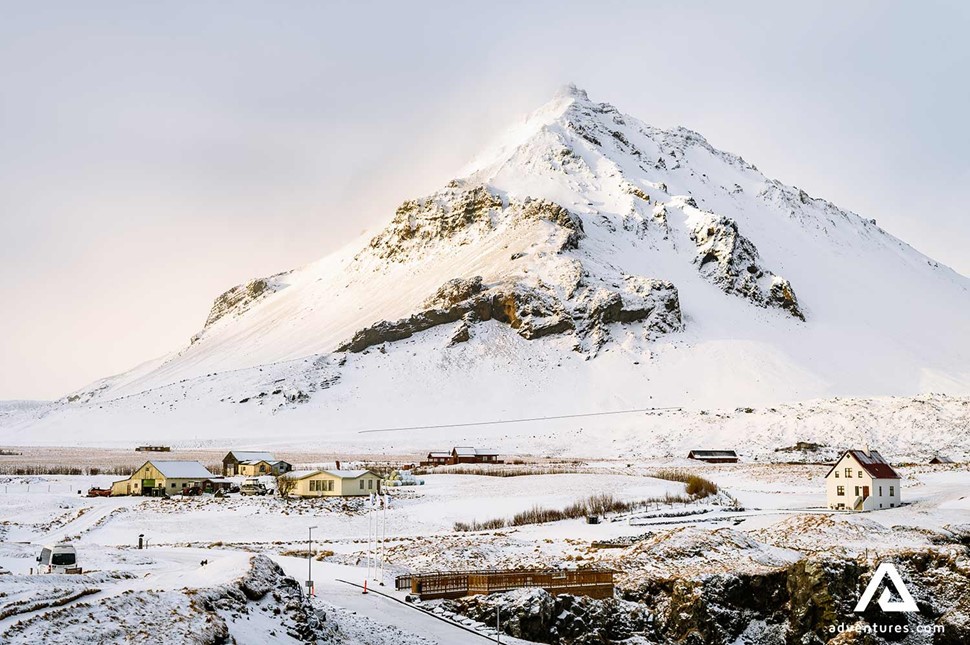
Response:
[[[613,574],[609,569],[440,571],[398,576],[395,586],[399,590],[410,588],[422,600],[461,598],[524,587],[539,587],[551,594],[612,598]]]

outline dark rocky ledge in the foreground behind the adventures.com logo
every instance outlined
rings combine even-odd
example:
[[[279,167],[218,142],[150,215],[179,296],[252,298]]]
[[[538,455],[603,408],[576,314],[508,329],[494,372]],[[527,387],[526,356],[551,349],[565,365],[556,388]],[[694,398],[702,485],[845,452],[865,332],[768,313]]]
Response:
[[[917,612],[883,612],[872,602],[856,613],[878,561],[831,556],[747,573],[651,579],[622,589],[622,600],[519,589],[445,606],[486,625],[495,625],[500,609],[509,635],[555,645],[955,645],[970,642],[968,555],[966,547],[951,544],[878,560],[895,563]],[[847,629],[860,633],[842,633]],[[883,631],[873,636],[867,629]]]

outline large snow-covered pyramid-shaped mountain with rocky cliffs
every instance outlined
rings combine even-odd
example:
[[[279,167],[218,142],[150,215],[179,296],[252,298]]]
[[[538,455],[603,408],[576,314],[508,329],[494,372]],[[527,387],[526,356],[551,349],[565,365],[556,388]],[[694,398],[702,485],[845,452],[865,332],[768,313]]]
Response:
[[[967,329],[970,280],[875,220],[570,86],[367,242],[219,296],[182,350],[0,408],[0,440],[164,432],[393,452],[456,431],[357,431],[965,396]],[[501,443],[541,427],[552,450],[594,426],[647,427],[615,415],[461,432]]]

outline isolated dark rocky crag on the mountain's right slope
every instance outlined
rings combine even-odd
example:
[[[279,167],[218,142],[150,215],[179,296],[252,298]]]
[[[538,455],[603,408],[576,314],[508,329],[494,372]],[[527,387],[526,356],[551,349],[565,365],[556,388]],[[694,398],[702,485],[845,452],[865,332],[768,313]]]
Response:
[[[691,202],[687,205],[696,207]],[[725,293],[805,320],[791,283],[761,266],[758,249],[738,232],[738,223],[729,217],[708,215],[690,232],[690,239],[697,246],[694,263],[701,275]]]

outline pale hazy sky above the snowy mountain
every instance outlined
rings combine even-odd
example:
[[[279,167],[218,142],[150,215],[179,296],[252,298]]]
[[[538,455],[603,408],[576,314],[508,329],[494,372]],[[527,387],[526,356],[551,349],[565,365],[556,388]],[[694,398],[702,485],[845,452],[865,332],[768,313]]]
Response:
[[[179,349],[566,82],[970,275],[970,5],[800,5],[4,3],[0,399]]]

